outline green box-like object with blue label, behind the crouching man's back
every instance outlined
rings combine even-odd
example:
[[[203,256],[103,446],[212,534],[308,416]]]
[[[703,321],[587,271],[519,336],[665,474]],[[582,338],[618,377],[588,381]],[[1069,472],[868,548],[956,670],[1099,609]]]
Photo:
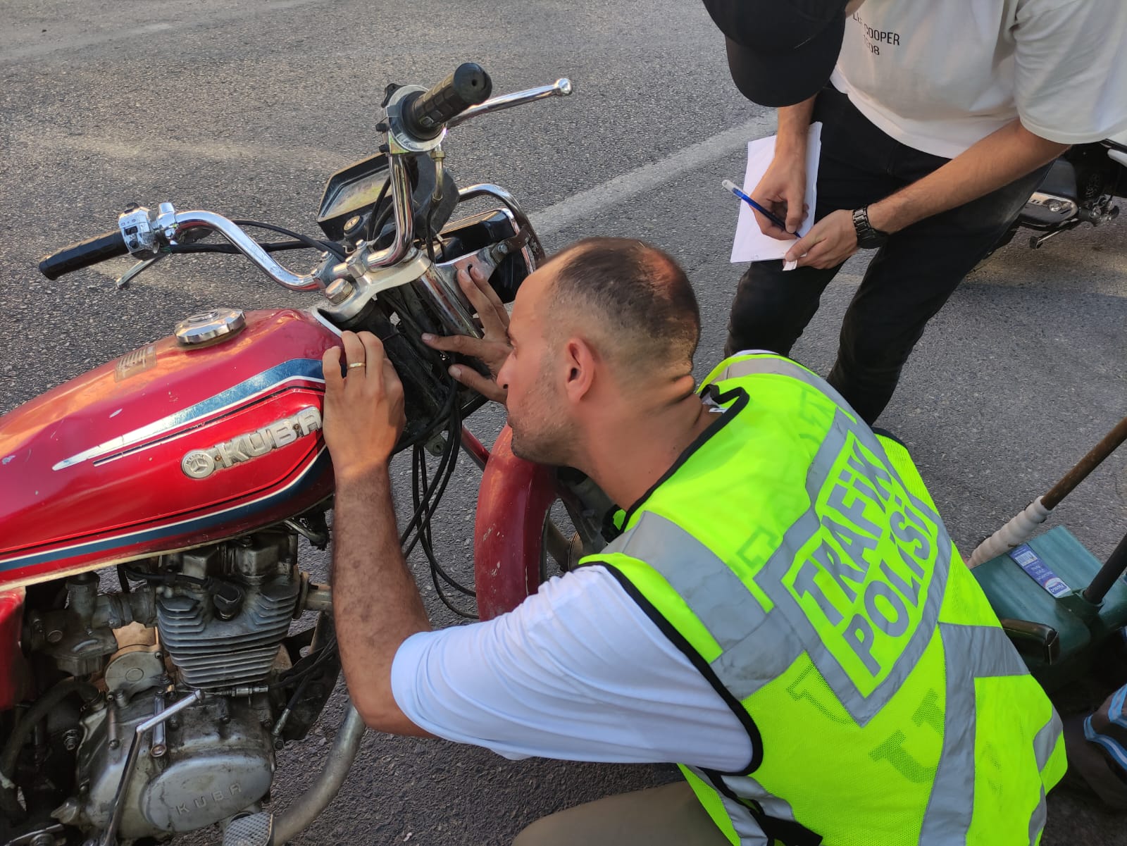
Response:
[[[1081,596],[1100,567],[1057,526],[971,570],[1030,673],[1049,692],[1088,673],[1097,647],[1127,626],[1121,576],[1101,603]]]

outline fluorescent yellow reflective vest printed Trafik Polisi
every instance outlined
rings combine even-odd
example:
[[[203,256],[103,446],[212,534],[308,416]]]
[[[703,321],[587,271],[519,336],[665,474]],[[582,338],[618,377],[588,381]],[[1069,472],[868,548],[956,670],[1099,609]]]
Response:
[[[908,457],[773,355],[582,563],[605,567],[725,698],[747,766],[682,765],[739,846],[1037,844],[1061,721]]]

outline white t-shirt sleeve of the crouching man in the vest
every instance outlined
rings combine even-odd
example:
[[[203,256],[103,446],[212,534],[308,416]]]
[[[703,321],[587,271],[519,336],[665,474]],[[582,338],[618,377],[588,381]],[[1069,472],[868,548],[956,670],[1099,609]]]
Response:
[[[747,766],[752,741],[709,682],[598,566],[485,623],[408,638],[396,703],[419,728],[506,758]]]

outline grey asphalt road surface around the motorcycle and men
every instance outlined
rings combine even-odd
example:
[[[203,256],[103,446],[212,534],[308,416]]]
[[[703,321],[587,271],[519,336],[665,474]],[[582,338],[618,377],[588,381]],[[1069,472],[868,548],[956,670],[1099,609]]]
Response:
[[[511,188],[549,249],[621,234],[672,252],[702,304],[698,372],[719,358],[743,269],[727,260],[737,210],[719,185],[739,179],[744,142],[773,121],[735,91],[699,3],[7,0],[3,17],[0,411],[203,309],[309,302],[233,257],[178,257],[115,291],[123,262],[46,282],[41,256],[112,229],[131,202],[313,233],[326,177],[374,152],[383,87],[431,84],[470,60],[497,92],[562,75],[576,92],[467,124],[447,143],[447,167],[462,184]],[[905,368],[881,424],[912,447],[964,550],[1127,412],[1125,233],[1085,228],[1036,252],[1002,250]],[[854,259],[829,286],[795,349],[818,372],[833,363],[862,270]],[[473,424],[486,436],[498,425],[496,412]],[[1106,462],[1051,518],[1099,558],[1127,528],[1125,467],[1124,454]],[[477,478],[468,462],[459,470],[436,528],[440,556],[462,573]],[[453,624],[414,563],[435,624]],[[326,561],[310,554],[307,564],[323,573]],[[338,692],[310,739],[279,756],[278,807],[321,766],[340,702]],[[514,764],[370,732],[336,801],[295,843],[507,844],[539,816],[671,777],[667,767]],[[1049,804],[1046,846],[1127,844],[1121,818],[1083,798],[1057,791]]]

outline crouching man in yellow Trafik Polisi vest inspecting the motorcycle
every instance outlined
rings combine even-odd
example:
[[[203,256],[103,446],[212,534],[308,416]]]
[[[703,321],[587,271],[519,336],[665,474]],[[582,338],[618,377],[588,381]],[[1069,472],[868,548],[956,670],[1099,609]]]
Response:
[[[365,722],[508,757],[677,762],[684,781],[538,821],[520,846],[1033,843],[1061,723],[962,564],[907,452],[767,353],[694,390],[689,280],[589,239],[512,320],[461,276],[513,449],[586,473],[621,534],[509,614],[431,631],[388,461],[402,386],[369,333],[325,357],[334,604]]]

